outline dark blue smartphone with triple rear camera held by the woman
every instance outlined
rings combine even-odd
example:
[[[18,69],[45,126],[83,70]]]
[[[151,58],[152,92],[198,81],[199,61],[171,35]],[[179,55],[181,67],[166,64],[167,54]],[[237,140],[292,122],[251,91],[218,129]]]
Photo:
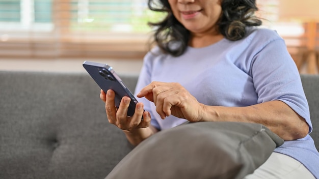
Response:
[[[88,61],[83,63],[83,67],[105,93],[107,93],[109,89],[115,92],[115,106],[117,108],[124,96],[129,97],[131,100],[127,110],[127,116],[132,116],[134,114],[135,106],[138,101],[123,83],[121,78],[115,73],[112,67],[108,64]]]

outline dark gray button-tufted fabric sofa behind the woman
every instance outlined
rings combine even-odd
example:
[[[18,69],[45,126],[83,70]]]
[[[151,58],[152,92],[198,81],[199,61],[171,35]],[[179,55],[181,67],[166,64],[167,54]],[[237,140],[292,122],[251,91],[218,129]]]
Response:
[[[137,76],[120,75],[134,90]],[[302,75],[319,148],[319,76]],[[133,148],[86,73],[0,72],[0,178],[104,178]]]

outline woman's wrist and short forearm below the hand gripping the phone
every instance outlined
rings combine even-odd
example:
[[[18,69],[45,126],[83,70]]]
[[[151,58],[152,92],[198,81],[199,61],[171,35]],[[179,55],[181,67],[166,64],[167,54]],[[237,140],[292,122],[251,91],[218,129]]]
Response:
[[[151,135],[157,132],[157,129],[153,126],[149,126],[147,128],[138,128],[133,131],[126,131],[123,130],[126,135],[127,140],[134,146],[141,143],[146,138],[150,137]]]

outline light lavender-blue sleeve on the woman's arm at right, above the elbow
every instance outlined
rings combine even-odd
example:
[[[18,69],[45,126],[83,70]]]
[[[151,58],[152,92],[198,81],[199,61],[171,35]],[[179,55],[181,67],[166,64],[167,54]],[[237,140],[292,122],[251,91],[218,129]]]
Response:
[[[296,64],[282,38],[257,49],[250,71],[258,103],[280,100],[305,118],[312,131],[308,102]]]

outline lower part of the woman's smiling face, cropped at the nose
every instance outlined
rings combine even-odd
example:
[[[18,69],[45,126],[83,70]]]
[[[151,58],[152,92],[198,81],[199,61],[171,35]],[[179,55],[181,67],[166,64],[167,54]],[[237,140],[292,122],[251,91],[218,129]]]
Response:
[[[168,0],[175,18],[194,34],[215,31],[221,0]]]

